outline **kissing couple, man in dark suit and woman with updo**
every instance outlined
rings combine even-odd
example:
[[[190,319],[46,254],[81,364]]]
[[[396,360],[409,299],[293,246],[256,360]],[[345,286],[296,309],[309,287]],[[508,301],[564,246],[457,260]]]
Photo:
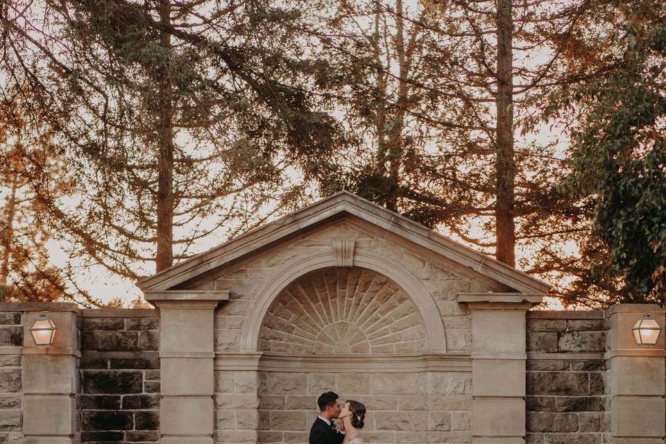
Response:
[[[361,429],[366,417],[366,406],[358,401],[341,404],[332,391],[322,393],[317,399],[319,416],[310,429],[309,444],[361,444]],[[340,420],[336,430],[334,420]]]

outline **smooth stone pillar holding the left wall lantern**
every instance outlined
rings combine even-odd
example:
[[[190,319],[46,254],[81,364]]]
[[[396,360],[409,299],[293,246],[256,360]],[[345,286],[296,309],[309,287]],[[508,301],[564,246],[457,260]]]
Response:
[[[24,303],[23,434],[26,444],[78,443],[76,363],[78,308],[73,303]],[[38,348],[30,334],[35,318],[48,310],[56,324],[53,346]]]

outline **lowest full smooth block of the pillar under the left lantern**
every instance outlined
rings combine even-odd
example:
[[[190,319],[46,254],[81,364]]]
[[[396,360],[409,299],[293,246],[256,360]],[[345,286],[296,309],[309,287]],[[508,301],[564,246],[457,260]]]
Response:
[[[76,432],[76,400],[69,396],[26,396],[23,433],[71,435]]]

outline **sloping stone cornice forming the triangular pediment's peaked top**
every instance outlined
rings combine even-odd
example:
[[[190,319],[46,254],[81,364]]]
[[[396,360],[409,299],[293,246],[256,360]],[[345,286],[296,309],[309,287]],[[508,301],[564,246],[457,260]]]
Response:
[[[545,282],[348,191],[340,191],[302,210],[241,234],[221,246],[140,280],[137,285],[144,292],[182,289],[187,282],[196,281],[198,276],[223,269],[228,264],[256,255],[301,232],[345,217],[372,225],[375,231],[383,232],[384,237],[390,234],[391,237],[402,239],[414,250],[442,257],[456,264],[459,270],[468,271],[470,275],[497,282],[506,291],[543,294],[550,288]]]

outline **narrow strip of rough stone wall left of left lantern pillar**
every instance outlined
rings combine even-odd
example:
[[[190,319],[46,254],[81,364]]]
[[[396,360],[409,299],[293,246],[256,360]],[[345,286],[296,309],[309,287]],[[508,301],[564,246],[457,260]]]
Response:
[[[0,312],[0,443],[22,439],[21,311]]]

